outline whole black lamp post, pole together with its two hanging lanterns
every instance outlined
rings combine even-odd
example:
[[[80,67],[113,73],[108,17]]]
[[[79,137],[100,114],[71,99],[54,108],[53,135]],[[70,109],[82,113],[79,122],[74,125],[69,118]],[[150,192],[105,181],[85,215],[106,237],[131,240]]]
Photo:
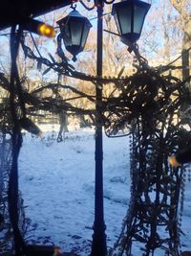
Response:
[[[103,44],[103,8],[104,4],[113,4],[116,0],[94,0],[97,9],[97,50],[96,50],[96,75],[102,76],[102,44]],[[87,8],[86,5],[80,3]],[[150,8],[149,4],[139,0],[127,0],[113,5],[113,15],[117,22],[118,33],[125,44],[135,43],[141,33],[144,18]],[[74,13],[75,12],[75,13]],[[91,28],[87,18],[76,12],[71,12],[67,17],[57,22],[60,26],[61,36],[66,49],[75,56],[83,50],[89,30]],[[83,23],[83,25],[81,25]],[[79,24],[79,26],[78,26]],[[77,30],[76,28],[79,28]],[[81,29],[83,28],[83,29]],[[81,38],[84,38],[83,40]],[[83,41],[83,44],[82,44]],[[76,45],[78,42],[78,45]],[[76,49],[78,49],[76,51]],[[102,82],[96,86],[96,185],[95,185],[95,222],[91,256],[105,256],[107,254],[105,221],[103,209],[103,136],[101,116]]]

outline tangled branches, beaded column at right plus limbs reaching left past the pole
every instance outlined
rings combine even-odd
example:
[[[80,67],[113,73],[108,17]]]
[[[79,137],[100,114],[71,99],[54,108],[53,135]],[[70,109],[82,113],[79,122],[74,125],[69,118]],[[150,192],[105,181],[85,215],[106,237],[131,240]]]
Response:
[[[58,37],[59,40],[59,37]],[[121,235],[110,255],[131,255],[135,242],[144,244],[145,256],[159,248],[168,254],[178,256],[180,229],[178,227],[178,202],[183,168],[172,169],[168,156],[184,145],[191,137],[183,128],[180,111],[189,102],[189,91],[185,81],[162,75],[170,67],[151,68],[147,61],[134,49],[137,72],[127,78],[100,78],[80,73],[68,63],[68,59],[58,47],[60,62],[50,55],[36,57],[32,50],[21,41],[26,57],[45,65],[50,70],[79,79],[92,81],[96,86],[113,84],[109,97],[96,102],[96,95],[87,94],[72,85],[49,83],[33,91],[28,91],[21,82],[20,96],[25,105],[26,115],[32,116],[37,110],[60,114],[65,111],[75,115],[88,115],[92,125],[98,120],[108,136],[132,134],[131,177],[132,191],[129,212],[123,222]],[[59,46],[59,41],[58,41]],[[190,78],[189,78],[190,79]],[[11,83],[0,74],[1,85],[11,92]],[[61,90],[70,93],[63,97]],[[47,91],[51,94],[47,95]],[[18,94],[18,92],[16,92]],[[19,96],[19,95],[17,95]],[[66,95],[65,95],[66,96]],[[19,98],[19,97],[18,97]],[[87,99],[89,106],[74,105],[76,99]],[[96,108],[96,105],[99,105]],[[15,103],[15,107],[20,105]],[[165,237],[160,235],[166,234]]]

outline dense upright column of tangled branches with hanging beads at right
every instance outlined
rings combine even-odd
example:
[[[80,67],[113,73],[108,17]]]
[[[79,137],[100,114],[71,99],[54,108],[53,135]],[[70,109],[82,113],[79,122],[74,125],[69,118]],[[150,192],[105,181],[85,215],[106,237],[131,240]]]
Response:
[[[123,85],[108,119],[110,134],[125,126],[131,143],[132,193],[129,212],[120,238],[110,255],[132,255],[135,244],[144,244],[142,255],[162,248],[167,255],[180,255],[178,204],[185,168],[172,169],[169,155],[190,145],[190,132],[180,118],[189,101],[183,82],[161,77],[152,69],[139,70],[128,86]],[[164,235],[165,234],[165,235]],[[134,255],[134,254],[133,254]]]

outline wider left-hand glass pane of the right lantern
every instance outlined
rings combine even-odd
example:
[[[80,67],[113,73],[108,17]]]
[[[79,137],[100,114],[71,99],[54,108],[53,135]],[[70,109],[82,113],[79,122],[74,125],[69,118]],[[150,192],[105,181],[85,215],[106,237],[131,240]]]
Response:
[[[121,35],[131,33],[131,6],[117,8],[117,16],[120,25]]]

